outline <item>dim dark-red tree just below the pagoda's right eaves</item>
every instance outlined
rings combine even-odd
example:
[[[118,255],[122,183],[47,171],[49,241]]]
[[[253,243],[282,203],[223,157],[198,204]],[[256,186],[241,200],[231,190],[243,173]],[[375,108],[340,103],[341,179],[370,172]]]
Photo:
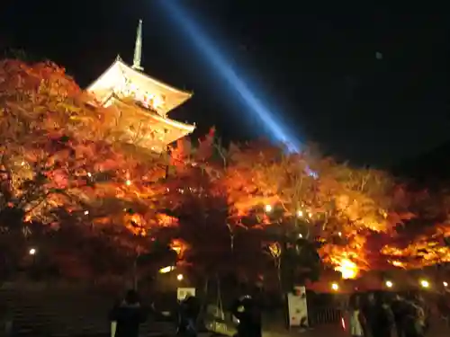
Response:
[[[193,146],[178,141],[171,154],[166,182],[166,208],[179,221],[174,239],[186,247],[183,262],[199,275],[215,277],[229,268],[230,245],[227,203],[217,183],[222,168],[213,159],[214,134]]]

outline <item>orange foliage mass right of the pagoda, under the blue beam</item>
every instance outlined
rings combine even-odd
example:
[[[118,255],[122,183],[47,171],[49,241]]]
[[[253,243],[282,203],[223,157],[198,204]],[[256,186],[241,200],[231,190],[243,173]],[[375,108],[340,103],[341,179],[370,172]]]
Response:
[[[384,268],[387,263],[374,257],[383,247],[382,236],[373,233],[389,236],[396,226],[414,217],[407,193],[387,173],[351,168],[308,152],[286,154],[264,142],[224,149],[211,142],[211,134],[207,139],[199,147],[209,157],[196,157],[195,148],[185,139],[178,143],[172,152],[177,182],[167,188],[167,197],[174,209],[187,207],[196,214],[198,218],[190,220],[192,231],[206,230],[202,217],[211,208],[226,208],[226,214],[214,219],[217,225],[211,217],[208,220],[217,233],[217,226],[222,228],[223,250],[229,250],[230,240],[252,228],[263,230],[262,236],[251,232],[254,240],[261,240],[261,247],[272,241],[264,232],[285,227],[285,233],[300,231],[303,237],[320,237],[322,262],[336,270],[343,262],[355,263],[358,270]],[[201,208],[190,204],[193,196],[202,200]],[[191,249],[211,244],[211,236],[204,242],[194,242],[190,236]],[[214,240],[219,240],[217,236]],[[265,260],[259,250],[259,255],[246,253]]]

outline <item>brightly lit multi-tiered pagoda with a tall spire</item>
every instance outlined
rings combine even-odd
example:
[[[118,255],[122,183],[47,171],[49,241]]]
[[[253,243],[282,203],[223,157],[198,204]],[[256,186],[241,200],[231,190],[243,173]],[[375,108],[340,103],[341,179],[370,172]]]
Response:
[[[133,65],[127,65],[118,56],[86,90],[94,94],[98,104],[116,110],[120,119],[117,123],[126,135],[126,142],[161,153],[166,151],[167,145],[195,129],[194,125],[167,117],[168,112],[193,94],[144,74],[141,55],[142,20],[139,20]]]

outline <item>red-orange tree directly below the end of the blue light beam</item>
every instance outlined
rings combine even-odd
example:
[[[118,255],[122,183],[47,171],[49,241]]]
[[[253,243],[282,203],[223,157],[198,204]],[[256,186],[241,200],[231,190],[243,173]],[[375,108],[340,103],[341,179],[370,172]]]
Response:
[[[230,212],[262,236],[279,286],[316,279],[320,261],[310,238],[317,181],[305,154],[288,154],[265,142],[231,146],[226,186]],[[312,238],[313,236],[311,236]]]

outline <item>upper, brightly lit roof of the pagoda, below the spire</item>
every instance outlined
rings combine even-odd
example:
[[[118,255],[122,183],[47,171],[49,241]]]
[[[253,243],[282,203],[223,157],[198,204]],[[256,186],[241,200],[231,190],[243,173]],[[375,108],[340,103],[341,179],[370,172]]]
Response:
[[[94,93],[96,99],[104,103],[111,94],[129,81],[139,91],[164,97],[164,104],[157,107],[157,113],[165,116],[169,111],[190,99],[193,93],[185,92],[150,77],[127,65],[120,57],[108,67],[86,90]]]

